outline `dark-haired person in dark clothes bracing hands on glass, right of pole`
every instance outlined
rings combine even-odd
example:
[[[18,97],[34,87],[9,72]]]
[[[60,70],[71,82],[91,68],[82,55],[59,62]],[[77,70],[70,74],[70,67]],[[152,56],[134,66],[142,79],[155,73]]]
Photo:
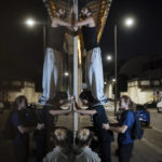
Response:
[[[82,109],[78,106],[76,99],[73,99],[73,110],[93,118],[93,127],[100,145],[102,162],[111,162],[111,141],[114,139],[111,131],[103,129],[103,125],[109,126],[109,120],[103,104],[96,100],[90,91],[82,92],[79,98],[89,108],[86,110]]]

